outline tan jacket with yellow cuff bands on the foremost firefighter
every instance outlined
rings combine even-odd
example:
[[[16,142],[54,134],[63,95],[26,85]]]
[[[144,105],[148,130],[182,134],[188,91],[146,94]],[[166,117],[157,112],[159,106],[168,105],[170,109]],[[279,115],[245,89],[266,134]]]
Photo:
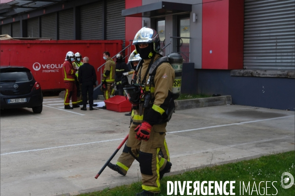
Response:
[[[155,55],[155,60],[160,57],[159,54]],[[144,75],[147,71],[151,59],[144,59],[142,67],[139,69],[138,74],[141,75],[141,81],[143,81]],[[147,74],[146,82],[148,81],[149,74]],[[174,69],[172,66],[164,62],[156,70],[154,84],[146,86],[146,91],[151,92],[152,100],[154,100],[153,106],[149,109],[143,109],[142,115],[139,115],[139,109],[132,110],[131,121],[133,124],[140,124],[143,121],[147,121],[149,124],[159,124],[163,119],[163,113],[168,109],[169,100],[172,97],[172,86],[175,78]],[[137,81],[138,83],[138,76]]]

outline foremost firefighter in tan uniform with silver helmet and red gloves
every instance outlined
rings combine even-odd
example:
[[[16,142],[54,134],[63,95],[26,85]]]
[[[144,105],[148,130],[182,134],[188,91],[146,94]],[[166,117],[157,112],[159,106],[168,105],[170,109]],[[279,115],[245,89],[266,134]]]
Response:
[[[132,103],[127,149],[139,161],[143,191],[137,196],[148,196],[161,191],[160,179],[172,166],[160,151],[164,148],[165,127],[172,113],[169,110],[172,104],[174,106],[172,85],[175,73],[167,61],[154,66],[164,58],[159,54],[161,44],[157,31],[141,28],[133,45],[143,62],[137,65],[138,74],[133,84],[124,88]]]

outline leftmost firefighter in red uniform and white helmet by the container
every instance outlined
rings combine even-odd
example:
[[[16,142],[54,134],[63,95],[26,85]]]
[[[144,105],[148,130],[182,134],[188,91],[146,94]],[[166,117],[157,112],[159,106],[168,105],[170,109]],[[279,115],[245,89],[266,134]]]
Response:
[[[66,61],[63,64],[63,76],[66,87],[65,94],[65,109],[79,108],[77,105],[77,88],[75,85],[75,69],[72,65],[74,61],[74,53],[69,51],[66,53]],[[72,107],[69,106],[69,101],[72,99]]]

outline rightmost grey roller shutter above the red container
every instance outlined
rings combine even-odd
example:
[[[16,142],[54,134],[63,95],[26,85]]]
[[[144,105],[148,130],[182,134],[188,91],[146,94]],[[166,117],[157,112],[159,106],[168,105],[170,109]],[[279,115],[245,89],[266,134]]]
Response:
[[[122,39],[125,48],[125,17],[121,15],[123,9],[125,0],[106,1],[106,39]]]

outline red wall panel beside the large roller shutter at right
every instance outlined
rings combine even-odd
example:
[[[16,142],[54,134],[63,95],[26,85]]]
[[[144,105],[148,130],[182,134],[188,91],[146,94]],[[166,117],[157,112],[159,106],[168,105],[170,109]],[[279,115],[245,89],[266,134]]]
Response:
[[[244,0],[203,0],[202,69],[243,68],[243,9]]]

